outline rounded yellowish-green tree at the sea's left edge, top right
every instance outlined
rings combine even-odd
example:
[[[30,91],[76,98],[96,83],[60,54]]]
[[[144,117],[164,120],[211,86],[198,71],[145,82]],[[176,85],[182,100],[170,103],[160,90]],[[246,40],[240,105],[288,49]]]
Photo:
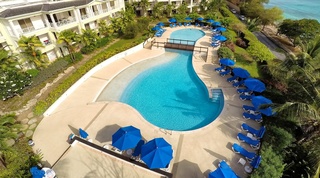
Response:
[[[274,22],[280,21],[283,19],[283,12],[278,7],[273,7],[271,9],[264,9],[263,12],[259,14],[259,19],[263,25],[262,29],[266,25],[274,24]]]

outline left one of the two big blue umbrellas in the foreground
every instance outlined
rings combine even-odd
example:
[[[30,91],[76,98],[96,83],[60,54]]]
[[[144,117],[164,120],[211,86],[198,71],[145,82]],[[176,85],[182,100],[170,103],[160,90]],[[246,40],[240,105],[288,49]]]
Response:
[[[133,127],[121,127],[112,135],[112,146],[119,150],[127,150],[134,148],[141,140],[142,136],[140,130]]]

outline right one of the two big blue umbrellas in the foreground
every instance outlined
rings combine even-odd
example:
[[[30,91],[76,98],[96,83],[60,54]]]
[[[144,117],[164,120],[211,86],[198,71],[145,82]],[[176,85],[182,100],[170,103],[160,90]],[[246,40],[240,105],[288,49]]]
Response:
[[[172,146],[163,138],[150,140],[141,147],[141,159],[150,169],[167,167],[172,153]]]

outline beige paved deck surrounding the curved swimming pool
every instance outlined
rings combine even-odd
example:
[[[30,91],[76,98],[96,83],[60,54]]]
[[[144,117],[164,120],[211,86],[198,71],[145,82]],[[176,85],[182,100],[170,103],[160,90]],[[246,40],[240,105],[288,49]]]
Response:
[[[187,27],[166,28],[163,36],[156,39],[166,39],[172,31],[183,28]],[[197,46],[210,46],[211,32],[208,30],[204,30],[204,32],[206,32],[206,36],[197,41]],[[94,102],[104,86],[121,70],[140,60],[152,58],[164,52],[161,49],[142,49],[94,73],[70,94],[52,114],[45,116],[34,132],[35,145],[33,149],[41,151],[43,160],[49,165],[53,165],[68,150],[70,147],[67,142],[68,136],[71,133],[77,134],[78,128],[86,130],[93,143],[103,146],[111,143],[112,134],[117,129],[133,125],[141,129],[141,134],[146,140],[163,137],[172,145],[174,157],[171,161],[170,172],[176,178],[207,177],[210,171],[218,167],[220,160],[226,160],[240,177],[247,177],[244,167],[237,163],[241,156],[235,154],[231,150],[231,146],[233,143],[238,143],[247,150],[254,151],[247,144],[239,142],[236,136],[241,132],[240,125],[243,122],[255,128],[259,128],[259,124],[242,118],[242,105],[250,105],[251,102],[239,99],[236,89],[226,81],[228,76],[220,77],[214,72],[214,69],[219,66],[216,50],[217,48],[209,48],[209,60],[206,62],[203,53],[194,52],[193,56],[194,69],[208,89],[223,90],[225,99],[223,111],[211,124],[194,131],[167,132],[148,123],[138,111],[126,104]],[[77,160],[77,155],[73,156]],[[72,160],[70,156],[69,160]],[[83,161],[85,162],[85,160]],[[77,161],[64,164],[77,164],[77,169],[84,167]],[[63,169],[65,168],[57,166],[55,171],[59,177],[68,177],[63,175],[63,172],[66,172]],[[84,176],[83,172],[75,171],[70,177]],[[113,176],[110,175],[110,177]]]

